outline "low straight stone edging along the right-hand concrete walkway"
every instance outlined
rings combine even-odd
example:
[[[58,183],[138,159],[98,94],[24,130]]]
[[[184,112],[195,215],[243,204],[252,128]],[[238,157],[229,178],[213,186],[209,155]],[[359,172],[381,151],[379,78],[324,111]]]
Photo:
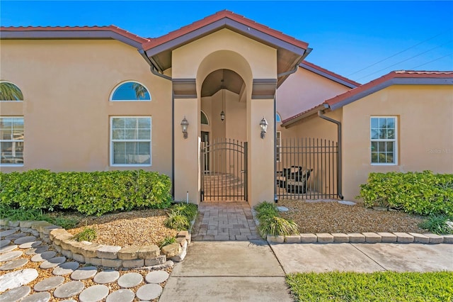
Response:
[[[432,233],[304,233],[290,236],[270,236],[269,243],[425,243],[425,244],[453,244],[453,235],[436,235]]]

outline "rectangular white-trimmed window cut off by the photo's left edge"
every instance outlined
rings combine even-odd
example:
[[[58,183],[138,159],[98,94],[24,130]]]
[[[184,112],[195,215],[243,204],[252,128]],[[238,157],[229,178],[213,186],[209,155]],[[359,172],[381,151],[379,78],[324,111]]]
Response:
[[[23,165],[23,117],[0,118],[2,165]]]

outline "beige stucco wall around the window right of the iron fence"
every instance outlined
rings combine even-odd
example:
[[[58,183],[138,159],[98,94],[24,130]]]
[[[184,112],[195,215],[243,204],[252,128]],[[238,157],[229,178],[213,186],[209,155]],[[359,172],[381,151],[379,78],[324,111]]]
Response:
[[[372,165],[371,116],[398,118],[398,164]],[[370,172],[453,173],[453,87],[390,86],[343,107],[343,194],[353,199]]]

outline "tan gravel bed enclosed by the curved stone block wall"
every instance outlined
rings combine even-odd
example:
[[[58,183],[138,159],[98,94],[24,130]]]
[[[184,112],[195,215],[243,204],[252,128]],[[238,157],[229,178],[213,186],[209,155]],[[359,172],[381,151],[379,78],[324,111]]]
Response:
[[[76,228],[67,231],[76,235],[85,227],[95,228],[97,237],[92,242],[103,245],[159,245],[165,237],[178,234],[178,231],[166,228],[166,218],[166,211],[159,209],[112,213],[101,217],[83,216]]]

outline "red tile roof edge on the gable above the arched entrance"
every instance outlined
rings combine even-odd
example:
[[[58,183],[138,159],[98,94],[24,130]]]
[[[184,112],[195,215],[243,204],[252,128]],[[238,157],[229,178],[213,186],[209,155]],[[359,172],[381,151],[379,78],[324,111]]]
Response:
[[[195,21],[194,23],[189,24],[188,26],[183,26],[182,28],[179,28],[177,30],[173,30],[170,33],[167,33],[166,35],[162,35],[159,38],[155,38],[153,40],[150,40],[149,42],[144,43],[144,45],[143,45],[144,50],[149,50],[152,47],[156,47],[156,46],[159,46],[161,44],[164,44],[164,43],[166,43],[166,42],[168,42],[170,40],[173,40],[173,39],[178,38],[178,37],[180,37],[182,35],[190,33],[190,32],[192,32],[194,30],[197,30],[197,29],[202,28],[204,26],[207,26],[207,25],[209,25],[211,23],[214,23],[215,21],[219,21],[222,18],[229,18],[229,19],[231,19],[233,21],[242,23],[245,26],[254,28],[256,30],[259,30],[259,31],[261,31],[263,33],[271,35],[271,36],[273,36],[275,38],[283,40],[286,43],[295,45],[297,47],[302,47],[304,49],[306,49],[306,47],[308,47],[308,43],[306,43],[306,42],[304,42],[302,40],[297,40],[296,38],[292,38],[289,35],[285,35],[285,33],[282,33],[282,32],[280,32],[278,30],[274,30],[274,29],[269,28],[268,26],[264,26],[264,25],[262,25],[260,23],[256,23],[255,21],[253,21],[251,19],[248,19],[248,18],[246,18],[244,16],[241,16],[241,15],[239,15],[237,13],[233,13],[232,11],[224,10],[224,11],[219,11],[217,13],[214,13],[211,16],[207,16],[205,18],[202,18],[199,21]]]

